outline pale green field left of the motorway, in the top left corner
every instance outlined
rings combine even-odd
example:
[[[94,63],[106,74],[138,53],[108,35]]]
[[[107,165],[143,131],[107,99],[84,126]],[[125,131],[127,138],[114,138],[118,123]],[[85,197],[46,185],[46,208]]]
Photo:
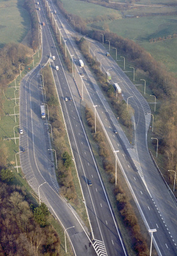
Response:
[[[0,47],[6,43],[19,43],[30,27],[28,12],[23,9],[23,0],[0,0]]]

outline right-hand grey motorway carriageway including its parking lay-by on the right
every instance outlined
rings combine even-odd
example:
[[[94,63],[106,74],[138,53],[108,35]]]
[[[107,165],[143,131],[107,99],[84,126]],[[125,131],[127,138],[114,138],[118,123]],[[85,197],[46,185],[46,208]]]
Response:
[[[53,8],[56,9],[56,7]],[[154,245],[158,255],[176,255],[176,201],[157,172],[147,149],[147,132],[150,124],[148,103],[114,60],[105,58],[102,61],[102,70],[107,71],[111,68],[112,82],[119,83],[124,99],[127,100],[128,97],[133,96],[128,101],[134,109],[132,122],[135,137],[133,144],[130,145],[103,94],[96,85],[90,70],[86,66],[82,69],[78,66],[78,60],[82,59],[82,55],[75,45],[72,36],[74,35],[73,29],[68,26],[61,14],[58,15],[57,21],[59,27],[63,28],[61,33],[63,39],[67,40],[68,51],[71,55],[74,55],[73,59],[76,61],[75,69],[77,73],[75,74],[75,80],[77,84],[81,84],[79,73],[84,75],[84,90],[86,91],[86,93],[84,92],[84,101],[90,101],[92,106],[98,105],[96,107],[97,117],[102,124],[112,150],[119,149],[121,152],[118,155],[118,163],[132,191],[144,223],[147,229],[157,229],[157,232],[154,233]],[[106,49],[98,42],[90,39],[89,42],[91,42],[92,54],[95,51],[96,58],[100,61],[106,55]],[[80,90],[82,90],[81,86]],[[114,127],[118,131],[117,137],[112,133]]]

